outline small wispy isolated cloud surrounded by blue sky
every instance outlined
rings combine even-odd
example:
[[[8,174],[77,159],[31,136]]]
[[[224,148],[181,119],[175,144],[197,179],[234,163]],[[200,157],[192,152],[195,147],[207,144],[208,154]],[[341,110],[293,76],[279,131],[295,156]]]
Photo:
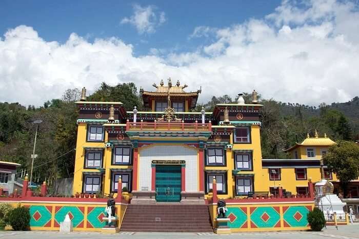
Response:
[[[133,5],[133,15],[121,20],[121,24],[131,24],[136,27],[139,34],[154,33],[156,27],[166,22],[165,12],[156,14],[155,6],[142,7],[138,4]],[[158,19],[157,19],[158,18]]]

